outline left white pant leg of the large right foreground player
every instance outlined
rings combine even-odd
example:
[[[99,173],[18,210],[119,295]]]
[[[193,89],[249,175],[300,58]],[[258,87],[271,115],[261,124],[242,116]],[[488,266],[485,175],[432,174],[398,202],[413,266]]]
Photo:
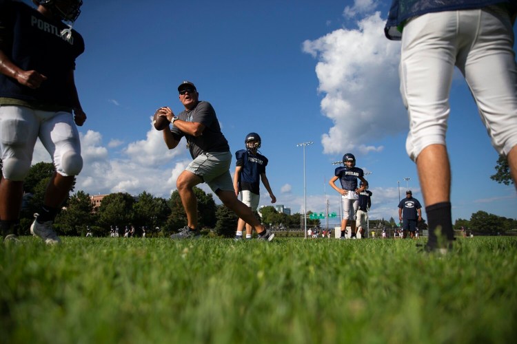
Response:
[[[455,12],[424,14],[404,27],[399,74],[409,116],[406,150],[412,160],[430,144],[445,145],[456,27]]]

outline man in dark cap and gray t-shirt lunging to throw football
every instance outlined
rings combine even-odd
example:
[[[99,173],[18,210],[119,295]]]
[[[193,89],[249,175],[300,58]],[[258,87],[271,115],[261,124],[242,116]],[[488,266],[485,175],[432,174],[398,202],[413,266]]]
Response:
[[[179,233],[171,235],[171,238],[191,239],[200,236],[193,188],[197,184],[207,183],[227,208],[256,230],[259,234],[258,239],[272,241],[274,234],[266,230],[251,209],[235,195],[230,175],[232,153],[221,132],[214,108],[210,103],[199,100],[199,93],[190,81],[183,81],[178,87],[178,92],[185,110],[176,117],[170,107],[159,109],[159,116],[166,116],[172,123],[172,128],[163,129],[163,140],[169,149],[174,149],[181,138],[185,137],[193,161],[176,180],[176,188],[187,213],[188,223]]]

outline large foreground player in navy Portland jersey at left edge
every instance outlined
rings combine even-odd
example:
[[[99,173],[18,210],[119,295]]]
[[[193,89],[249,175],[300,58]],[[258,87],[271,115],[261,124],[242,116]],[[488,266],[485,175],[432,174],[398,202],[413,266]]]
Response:
[[[47,244],[57,244],[60,239],[52,222],[83,167],[76,125],[83,125],[86,115],[79,103],[74,68],[84,42],[71,28],[83,2],[32,2],[36,10],[18,1],[0,0],[0,227],[4,238],[16,239],[23,180],[39,138],[56,171],[30,231]]]

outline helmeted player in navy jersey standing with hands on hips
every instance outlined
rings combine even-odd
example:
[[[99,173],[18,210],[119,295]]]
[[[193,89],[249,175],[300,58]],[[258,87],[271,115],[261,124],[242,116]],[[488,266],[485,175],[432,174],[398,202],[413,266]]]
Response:
[[[356,239],[356,213],[359,206],[359,193],[365,191],[368,182],[363,177],[362,169],[356,167],[356,157],[352,153],[343,155],[343,165],[334,171],[334,177],[329,180],[332,189],[341,194],[343,204],[343,220],[341,220],[341,238],[345,239],[347,224],[350,220],[350,239]],[[357,179],[363,182],[363,186],[357,187]],[[336,180],[341,182],[341,188],[336,186]]]

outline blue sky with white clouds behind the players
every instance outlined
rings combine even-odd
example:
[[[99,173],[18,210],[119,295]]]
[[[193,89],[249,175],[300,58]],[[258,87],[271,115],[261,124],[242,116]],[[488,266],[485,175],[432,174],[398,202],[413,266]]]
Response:
[[[400,43],[383,34],[389,2],[84,1],[74,28],[86,50],[75,76],[88,120],[79,128],[85,166],[76,190],[168,198],[191,159],[183,144],[168,151],[150,118],[165,105],[181,111],[176,87],[191,80],[216,109],[233,152],[247,133],[261,135],[276,204],[303,212],[303,149],[296,144],[312,141],[305,147],[307,211],[325,211],[327,200],[329,211],[339,211],[328,180],[332,162],[350,152],[372,173],[370,219],[397,218],[398,182],[401,197],[407,186],[423,197],[405,153]],[[489,179],[498,155],[459,73],[451,107],[453,219],[480,210],[516,218],[514,186]],[[39,161],[50,161],[41,144]],[[260,204],[270,205],[261,191]]]

